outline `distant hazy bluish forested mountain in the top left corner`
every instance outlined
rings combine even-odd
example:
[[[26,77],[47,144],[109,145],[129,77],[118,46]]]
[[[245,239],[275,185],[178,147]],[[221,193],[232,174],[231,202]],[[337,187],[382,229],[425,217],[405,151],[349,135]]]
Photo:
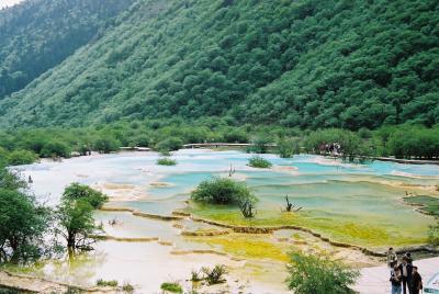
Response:
[[[0,99],[99,38],[133,0],[32,0],[0,10]]]

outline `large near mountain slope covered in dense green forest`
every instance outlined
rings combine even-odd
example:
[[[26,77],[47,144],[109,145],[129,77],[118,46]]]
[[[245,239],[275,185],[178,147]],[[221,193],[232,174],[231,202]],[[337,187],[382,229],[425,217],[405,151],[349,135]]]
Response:
[[[138,0],[100,39],[0,102],[8,126],[172,116],[439,123],[439,2]]]

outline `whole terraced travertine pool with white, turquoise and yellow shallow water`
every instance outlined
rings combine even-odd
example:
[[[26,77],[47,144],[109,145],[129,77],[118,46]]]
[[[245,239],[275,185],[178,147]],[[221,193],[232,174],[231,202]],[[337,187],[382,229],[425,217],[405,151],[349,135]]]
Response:
[[[263,170],[247,167],[251,155],[235,150],[180,150],[172,155],[178,161],[175,167],[157,166],[158,157],[155,152],[121,152],[19,167],[24,177],[32,177],[38,199],[53,205],[71,182],[90,184],[111,197],[105,206],[109,211],[95,213],[111,239],[99,241],[92,253],[44,262],[27,271],[81,285],[92,285],[98,279],[130,281],[138,293],[151,293],[166,281],[180,280],[190,287],[185,280],[191,270],[223,263],[234,278],[228,283],[230,292],[280,293],[285,291],[290,250],[325,251],[359,267],[379,261],[297,229],[240,234],[190,217],[164,220],[117,210],[162,216],[178,211],[225,225],[297,226],[336,242],[383,251],[389,246],[425,244],[434,223],[404,203],[403,196],[439,197],[439,166],[349,165],[319,156],[281,159],[263,155],[273,162],[273,168]],[[187,201],[202,180],[226,176],[230,165],[236,170],[233,177],[245,181],[259,199],[258,214],[251,220],[243,218],[236,207]],[[282,212],[285,195],[303,208],[294,214]],[[109,225],[111,219],[116,225]]]

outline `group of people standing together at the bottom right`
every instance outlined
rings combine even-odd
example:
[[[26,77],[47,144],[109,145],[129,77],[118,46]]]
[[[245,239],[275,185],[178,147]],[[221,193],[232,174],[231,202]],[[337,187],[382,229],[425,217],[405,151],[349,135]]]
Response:
[[[410,252],[406,252],[398,264],[398,257],[391,247],[387,251],[387,265],[391,269],[392,294],[419,294],[423,279],[418,268],[413,264]]]

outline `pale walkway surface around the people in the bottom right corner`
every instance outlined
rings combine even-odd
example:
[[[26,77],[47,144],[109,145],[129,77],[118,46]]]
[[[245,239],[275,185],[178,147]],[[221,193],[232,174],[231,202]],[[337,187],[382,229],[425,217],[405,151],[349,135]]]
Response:
[[[439,272],[439,257],[423,260],[415,260],[414,265],[423,276],[424,286],[428,280]],[[390,270],[386,265],[365,268],[361,270],[361,276],[353,287],[361,294],[387,294],[391,293]]]

